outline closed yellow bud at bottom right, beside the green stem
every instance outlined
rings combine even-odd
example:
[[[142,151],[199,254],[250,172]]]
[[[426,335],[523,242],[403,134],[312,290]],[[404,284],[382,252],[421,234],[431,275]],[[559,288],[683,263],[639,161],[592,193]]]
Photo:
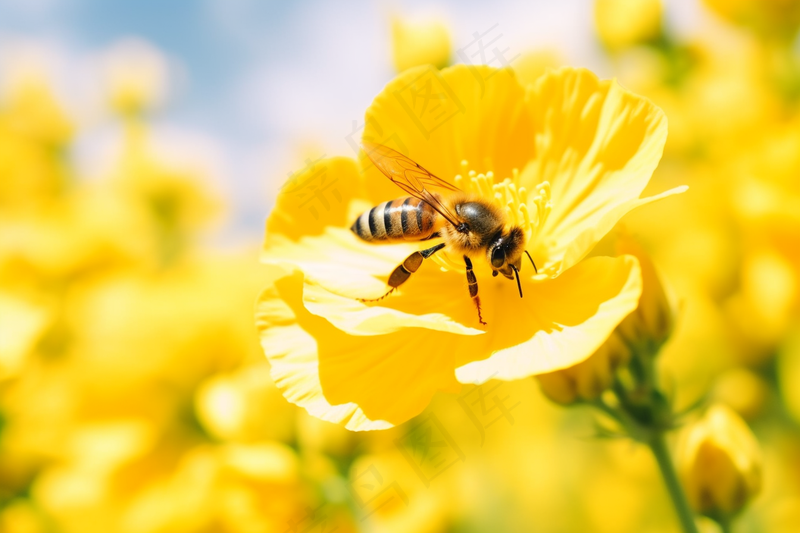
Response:
[[[677,463],[689,503],[711,518],[730,518],[761,488],[758,441],[722,404],[684,430]]]

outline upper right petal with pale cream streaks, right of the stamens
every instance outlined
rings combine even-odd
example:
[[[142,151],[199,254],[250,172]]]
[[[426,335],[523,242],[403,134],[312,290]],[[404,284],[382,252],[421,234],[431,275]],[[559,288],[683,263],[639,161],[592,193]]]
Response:
[[[573,241],[602,237],[585,232],[609,212],[618,219],[621,206],[633,208],[631,200],[639,198],[661,159],[667,120],[646,98],[585,69],[544,75],[531,87],[528,105],[535,157],[521,181],[529,191],[543,181],[552,187],[552,211],[533,248],[545,266],[561,272],[571,266],[558,263]]]

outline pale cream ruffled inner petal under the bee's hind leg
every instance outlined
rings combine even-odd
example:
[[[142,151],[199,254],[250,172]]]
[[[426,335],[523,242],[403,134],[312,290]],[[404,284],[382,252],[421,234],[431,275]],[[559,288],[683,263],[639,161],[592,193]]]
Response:
[[[377,303],[357,300],[385,294],[389,274],[419,244],[370,244],[349,230],[332,227],[298,241],[280,235],[268,240],[262,262],[302,270],[306,309],[343,332],[382,335],[426,328],[461,335],[483,333],[476,329],[476,315],[470,311],[464,275],[441,272],[430,260],[391,296]]]

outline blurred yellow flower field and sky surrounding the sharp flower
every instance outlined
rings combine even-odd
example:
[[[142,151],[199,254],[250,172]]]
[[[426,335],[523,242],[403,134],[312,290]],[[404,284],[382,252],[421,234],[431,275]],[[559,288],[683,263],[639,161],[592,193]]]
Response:
[[[0,531],[677,531],[648,451],[533,380],[368,434],[272,384],[275,195],[426,63],[583,66],[664,109],[646,193],[690,190],[625,221],[680,307],[662,375],[760,441],[734,530],[800,531],[798,26],[797,0],[0,0]]]

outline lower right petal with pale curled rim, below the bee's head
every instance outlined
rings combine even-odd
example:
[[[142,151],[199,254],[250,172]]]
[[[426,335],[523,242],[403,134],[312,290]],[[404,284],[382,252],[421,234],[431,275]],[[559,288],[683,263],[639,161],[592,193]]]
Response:
[[[474,342],[486,342],[484,353],[491,356],[460,359],[458,381],[521,379],[583,361],[636,309],[642,278],[633,256],[593,257],[524,290],[523,299],[487,302],[494,307],[495,316],[487,318],[493,327]]]

